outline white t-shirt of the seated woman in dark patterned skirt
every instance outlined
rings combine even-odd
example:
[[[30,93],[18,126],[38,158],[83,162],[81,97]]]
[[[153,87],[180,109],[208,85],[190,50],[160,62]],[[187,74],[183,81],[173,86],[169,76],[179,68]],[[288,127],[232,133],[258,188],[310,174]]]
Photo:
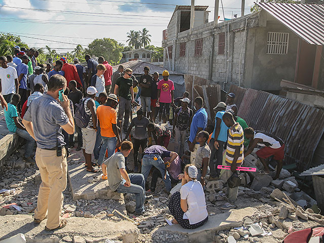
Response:
[[[196,224],[208,216],[206,199],[203,186],[199,181],[189,181],[180,189],[181,199],[187,199],[188,210],[184,213],[183,219],[189,219],[190,224]]]

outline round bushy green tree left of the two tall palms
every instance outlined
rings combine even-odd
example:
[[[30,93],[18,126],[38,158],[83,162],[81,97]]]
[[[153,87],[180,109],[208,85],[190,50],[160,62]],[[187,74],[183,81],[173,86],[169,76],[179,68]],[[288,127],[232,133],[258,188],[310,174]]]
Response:
[[[95,39],[86,49],[87,54],[97,57],[103,56],[112,65],[119,63],[122,51],[123,47],[111,38]]]

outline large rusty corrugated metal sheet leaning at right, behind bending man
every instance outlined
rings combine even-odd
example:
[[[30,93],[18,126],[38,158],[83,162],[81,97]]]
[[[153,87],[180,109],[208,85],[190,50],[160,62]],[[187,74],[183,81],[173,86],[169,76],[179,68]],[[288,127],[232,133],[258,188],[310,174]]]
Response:
[[[285,141],[286,164],[308,169],[324,132],[324,111],[264,91],[230,87],[235,93],[237,115],[250,127]]]

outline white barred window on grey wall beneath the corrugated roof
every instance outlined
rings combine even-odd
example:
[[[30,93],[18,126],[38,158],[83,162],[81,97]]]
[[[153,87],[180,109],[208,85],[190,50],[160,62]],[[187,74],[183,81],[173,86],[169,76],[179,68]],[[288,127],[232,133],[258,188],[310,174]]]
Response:
[[[268,32],[267,54],[287,54],[289,33]]]

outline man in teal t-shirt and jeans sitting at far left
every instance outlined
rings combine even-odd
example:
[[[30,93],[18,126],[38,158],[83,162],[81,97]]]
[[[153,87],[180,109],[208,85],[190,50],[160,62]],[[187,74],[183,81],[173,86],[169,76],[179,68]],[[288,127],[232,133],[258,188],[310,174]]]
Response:
[[[20,95],[14,94],[11,103],[8,104],[8,110],[5,109],[5,119],[7,128],[12,133],[17,133],[20,137],[26,140],[25,154],[23,160],[29,163],[35,163],[32,159],[32,151],[35,140],[28,134],[24,125],[20,123],[17,111],[17,104],[20,101]]]

